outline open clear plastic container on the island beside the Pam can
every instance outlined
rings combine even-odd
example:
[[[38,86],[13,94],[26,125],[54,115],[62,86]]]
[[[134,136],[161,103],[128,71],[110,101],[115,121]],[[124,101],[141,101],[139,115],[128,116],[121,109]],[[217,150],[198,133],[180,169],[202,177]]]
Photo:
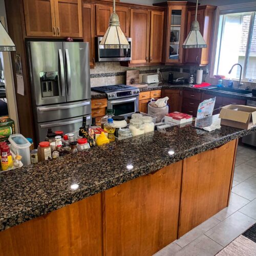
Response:
[[[11,143],[11,150],[15,155],[22,156],[24,165],[31,164],[30,161],[30,143],[22,134],[12,134],[8,139]]]

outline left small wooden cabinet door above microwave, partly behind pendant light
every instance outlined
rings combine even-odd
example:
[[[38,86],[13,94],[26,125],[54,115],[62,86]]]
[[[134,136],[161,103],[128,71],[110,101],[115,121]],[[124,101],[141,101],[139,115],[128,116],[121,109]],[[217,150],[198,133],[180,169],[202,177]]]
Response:
[[[113,12],[113,7],[109,5],[96,6],[96,36],[104,36],[109,27],[110,16]]]

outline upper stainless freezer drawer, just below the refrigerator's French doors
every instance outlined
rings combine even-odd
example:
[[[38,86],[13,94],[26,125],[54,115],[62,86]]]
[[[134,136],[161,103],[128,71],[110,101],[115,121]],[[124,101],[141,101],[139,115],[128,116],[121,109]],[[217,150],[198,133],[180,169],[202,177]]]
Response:
[[[37,106],[36,119],[40,123],[84,116],[91,113],[91,100],[84,100],[72,103]]]

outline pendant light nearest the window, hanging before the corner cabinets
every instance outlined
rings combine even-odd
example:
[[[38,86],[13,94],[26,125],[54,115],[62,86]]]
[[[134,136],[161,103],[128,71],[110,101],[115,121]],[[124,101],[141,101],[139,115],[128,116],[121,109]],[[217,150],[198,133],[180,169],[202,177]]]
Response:
[[[198,7],[198,0],[197,0]],[[190,32],[184,41],[183,48],[207,48],[206,42],[200,33],[200,26],[197,21],[197,7],[196,7],[196,19],[192,22]]]

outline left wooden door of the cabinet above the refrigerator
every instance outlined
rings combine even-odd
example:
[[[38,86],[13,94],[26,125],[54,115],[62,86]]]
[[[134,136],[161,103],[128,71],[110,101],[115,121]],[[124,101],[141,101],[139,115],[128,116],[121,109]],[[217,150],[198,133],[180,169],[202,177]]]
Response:
[[[24,0],[27,36],[56,36],[54,0]]]

